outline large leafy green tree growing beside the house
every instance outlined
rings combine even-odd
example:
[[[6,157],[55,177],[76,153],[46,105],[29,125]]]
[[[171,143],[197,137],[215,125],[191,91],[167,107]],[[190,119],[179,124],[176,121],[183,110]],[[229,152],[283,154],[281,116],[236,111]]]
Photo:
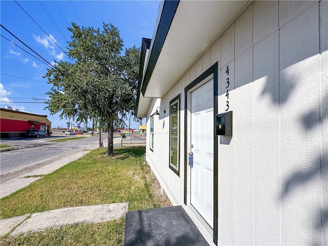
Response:
[[[108,129],[108,154],[113,155],[113,131],[135,107],[140,49],[126,49],[121,56],[122,39],[117,28],[104,24],[104,30],[68,28],[71,61],[56,62],[45,77],[52,84],[47,101],[51,114],[80,122],[94,120]],[[116,125],[116,124],[115,124]]]

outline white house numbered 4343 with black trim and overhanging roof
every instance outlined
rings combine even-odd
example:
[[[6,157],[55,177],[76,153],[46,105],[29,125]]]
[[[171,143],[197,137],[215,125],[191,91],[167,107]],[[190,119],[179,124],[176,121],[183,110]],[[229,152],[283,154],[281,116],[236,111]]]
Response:
[[[328,245],[328,1],[162,2],[137,101],[210,245]]]

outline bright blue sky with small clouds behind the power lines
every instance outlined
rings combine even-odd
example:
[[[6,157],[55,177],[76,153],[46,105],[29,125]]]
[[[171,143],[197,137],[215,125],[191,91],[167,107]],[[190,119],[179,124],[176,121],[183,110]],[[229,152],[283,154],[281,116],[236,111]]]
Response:
[[[125,48],[140,47],[141,38],[151,38],[159,1],[1,1],[1,25],[49,63],[69,60],[67,30],[78,26],[100,28],[103,22],[118,28]],[[43,76],[47,66],[42,58],[1,27],[0,107],[10,106],[20,111],[48,115],[52,127],[67,127],[67,119],[59,113],[51,116],[43,104],[51,85]],[[51,38],[50,38],[51,37]],[[7,40],[7,39],[9,40]],[[52,40],[51,40],[52,39]],[[55,44],[53,42],[55,41]],[[15,45],[14,45],[14,44]],[[26,51],[37,58],[31,56]],[[40,60],[39,60],[40,59]],[[83,125],[82,125],[83,126]],[[138,128],[131,122],[131,128]]]

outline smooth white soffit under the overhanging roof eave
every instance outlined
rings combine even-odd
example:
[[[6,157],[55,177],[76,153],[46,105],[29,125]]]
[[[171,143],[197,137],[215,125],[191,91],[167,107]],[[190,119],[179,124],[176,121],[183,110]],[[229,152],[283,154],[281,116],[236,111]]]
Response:
[[[247,4],[245,1],[180,1],[156,65],[152,70],[147,67],[141,88],[144,97],[163,97]]]

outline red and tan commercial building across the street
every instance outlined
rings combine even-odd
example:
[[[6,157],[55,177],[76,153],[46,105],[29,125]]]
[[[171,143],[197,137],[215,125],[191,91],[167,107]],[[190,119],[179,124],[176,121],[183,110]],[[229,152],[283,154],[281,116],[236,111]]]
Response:
[[[18,109],[6,107],[0,109],[1,138],[23,137],[30,130],[44,130],[51,133],[51,122],[47,115],[20,112]]]

